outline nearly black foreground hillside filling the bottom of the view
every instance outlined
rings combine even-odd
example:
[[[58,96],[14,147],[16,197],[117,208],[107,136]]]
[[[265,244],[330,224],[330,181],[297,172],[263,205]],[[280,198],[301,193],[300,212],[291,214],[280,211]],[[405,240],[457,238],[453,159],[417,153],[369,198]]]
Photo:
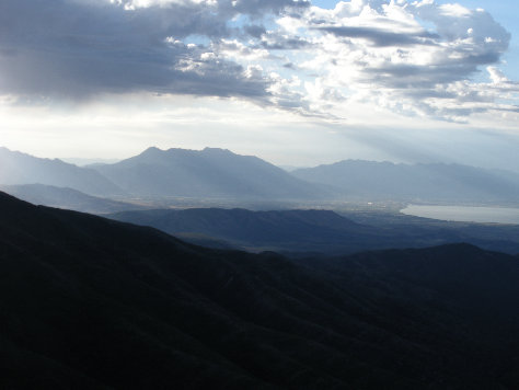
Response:
[[[301,264],[0,193],[0,388],[512,389],[519,260]]]

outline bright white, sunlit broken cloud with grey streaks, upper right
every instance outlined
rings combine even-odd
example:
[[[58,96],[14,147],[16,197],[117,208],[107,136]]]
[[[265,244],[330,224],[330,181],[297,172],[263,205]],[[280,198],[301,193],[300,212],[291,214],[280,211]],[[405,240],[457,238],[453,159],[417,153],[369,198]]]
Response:
[[[355,102],[454,122],[510,108],[500,102],[504,89],[489,88],[504,77],[497,76],[498,65],[510,34],[481,9],[434,0],[351,0],[284,15],[279,25],[285,39],[303,36],[311,47],[304,58],[299,49],[299,60],[288,61],[313,76],[307,90],[337,92],[310,94],[310,106],[347,113]],[[489,82],[471,81],[487,66]],[[508,85],[508,97],[514,88]]]

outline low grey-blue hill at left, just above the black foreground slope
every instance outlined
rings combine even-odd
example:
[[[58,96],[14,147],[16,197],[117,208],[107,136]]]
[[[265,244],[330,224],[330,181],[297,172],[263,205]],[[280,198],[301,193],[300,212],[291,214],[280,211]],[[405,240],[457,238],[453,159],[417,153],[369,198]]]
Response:
[[[35,205],[66,208],[91,214],[111,214],[123,210],[145,209],[142,206],[91,196],[77,190],[55,187],[53,185],[0,184],[0,190]]]

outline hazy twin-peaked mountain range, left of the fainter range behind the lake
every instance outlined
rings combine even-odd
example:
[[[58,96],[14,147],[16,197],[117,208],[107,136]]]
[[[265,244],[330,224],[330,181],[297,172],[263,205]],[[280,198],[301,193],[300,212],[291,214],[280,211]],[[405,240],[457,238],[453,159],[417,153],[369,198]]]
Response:
[[[327,190],[252,156],[206,148],[149,148],[117,163],[76,167],[0,148],[0,184],[45,184],[89,195],[247,199],[321,199]]]

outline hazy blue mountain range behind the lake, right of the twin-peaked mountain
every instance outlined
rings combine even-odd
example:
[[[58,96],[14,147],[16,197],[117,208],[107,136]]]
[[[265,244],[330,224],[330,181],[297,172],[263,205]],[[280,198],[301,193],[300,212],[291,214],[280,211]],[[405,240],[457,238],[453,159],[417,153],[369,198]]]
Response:
[[[348,198],[428,202],[517,202],[519,175],[460,164],[394,164],[345,160],[291,172],[333,185]]]

